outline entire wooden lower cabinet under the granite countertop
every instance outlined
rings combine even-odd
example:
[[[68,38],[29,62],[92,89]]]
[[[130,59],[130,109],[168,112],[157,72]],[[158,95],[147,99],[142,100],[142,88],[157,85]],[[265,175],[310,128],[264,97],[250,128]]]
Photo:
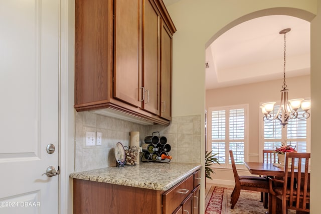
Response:
[[[198,214],[200,184],[195,174],[167,191],[74,179],[74,213]]]

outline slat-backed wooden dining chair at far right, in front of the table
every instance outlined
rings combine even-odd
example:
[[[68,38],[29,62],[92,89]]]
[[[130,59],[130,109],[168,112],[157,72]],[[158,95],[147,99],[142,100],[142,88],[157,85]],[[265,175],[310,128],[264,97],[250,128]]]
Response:
[[[285,153],[284,179],[269,178],[272,213],[276,211],[277,198],[282,200],[283,214],[287,209],[309,212],[309,159],[310,153]]]

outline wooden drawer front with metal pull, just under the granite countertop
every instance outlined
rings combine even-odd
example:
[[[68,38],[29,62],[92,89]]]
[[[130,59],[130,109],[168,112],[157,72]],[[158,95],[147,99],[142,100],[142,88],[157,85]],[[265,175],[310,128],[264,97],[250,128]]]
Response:
[[[192,192],[193,174],[163,194],[163,214],[173,213],[183,200]]]

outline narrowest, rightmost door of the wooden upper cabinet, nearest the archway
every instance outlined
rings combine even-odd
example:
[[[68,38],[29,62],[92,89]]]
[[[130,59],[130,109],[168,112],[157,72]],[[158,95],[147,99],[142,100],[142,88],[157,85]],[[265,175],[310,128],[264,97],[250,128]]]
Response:
[[[172,34],[161,28],[161,117],[172,120]]]

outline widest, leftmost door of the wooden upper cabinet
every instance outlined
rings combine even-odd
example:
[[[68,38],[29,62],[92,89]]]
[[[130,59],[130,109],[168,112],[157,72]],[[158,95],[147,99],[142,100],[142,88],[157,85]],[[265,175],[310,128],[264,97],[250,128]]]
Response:
[[[113,96],[141,107],[141,1],[114,2]]]

